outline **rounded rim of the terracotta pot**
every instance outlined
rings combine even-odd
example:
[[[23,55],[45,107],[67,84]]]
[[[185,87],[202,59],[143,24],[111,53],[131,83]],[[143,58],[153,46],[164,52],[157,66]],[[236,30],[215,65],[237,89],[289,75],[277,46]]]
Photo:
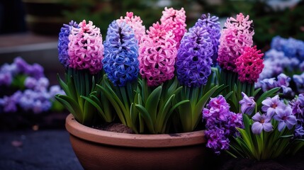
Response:
[[[108,132],[82,125],[72,114],[67,115],[65,128],[83,140],[121,147],[183,147],[206,143],[205,130],[159,135]]]

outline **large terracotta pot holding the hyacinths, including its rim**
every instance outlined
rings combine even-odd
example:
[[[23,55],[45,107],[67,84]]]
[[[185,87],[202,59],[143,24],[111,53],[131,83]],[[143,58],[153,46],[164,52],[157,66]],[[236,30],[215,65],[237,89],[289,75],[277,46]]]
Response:
[[[66,128],[84,169],[208,169],[214,155],[206,150],[205,131],[138,135],[96,130],[72,115]]]

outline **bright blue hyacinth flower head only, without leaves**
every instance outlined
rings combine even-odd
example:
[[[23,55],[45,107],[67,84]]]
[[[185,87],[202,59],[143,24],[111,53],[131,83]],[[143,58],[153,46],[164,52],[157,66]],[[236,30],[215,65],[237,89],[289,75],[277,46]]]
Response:
[[[137,79],[138,43],[134,31],[125,22],[113,21],[103,42],[103,69],[115,86]]]

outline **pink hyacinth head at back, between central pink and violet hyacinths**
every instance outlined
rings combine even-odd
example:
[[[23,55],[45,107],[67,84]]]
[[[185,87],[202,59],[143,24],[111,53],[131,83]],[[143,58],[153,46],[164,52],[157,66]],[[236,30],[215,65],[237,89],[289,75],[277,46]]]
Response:
[[[162,11],[162,18],[160,18],[162,25],[168,25],[169,28],[175,35],[174,40],[176,40],[176,48],[179,49],[179,44],[181,38],[183,38],[184,33],[186,33],[186,12],[184,8],[181,10],[175,10],[174,8],[164,8]]]

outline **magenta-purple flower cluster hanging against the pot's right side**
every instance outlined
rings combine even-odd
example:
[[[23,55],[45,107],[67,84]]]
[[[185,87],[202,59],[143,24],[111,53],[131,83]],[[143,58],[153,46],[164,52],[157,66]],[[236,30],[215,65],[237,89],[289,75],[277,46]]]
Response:
[[[207,147],[215,154],[229,149],[231,135],[235,135],[236,128],[243,128],[242,113],[233,113],[223,96],[211,98],[207,108],[203,109],[203,119],[206,120]]]

